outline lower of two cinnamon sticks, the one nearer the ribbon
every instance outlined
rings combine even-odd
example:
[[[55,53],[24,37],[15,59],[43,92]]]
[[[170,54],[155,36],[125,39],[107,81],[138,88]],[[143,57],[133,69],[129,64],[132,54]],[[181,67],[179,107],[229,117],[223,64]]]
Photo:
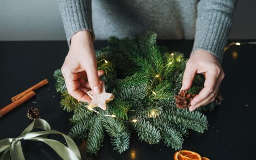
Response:
[[[0,109],[0,117],[3,117],[4,114],[14,110],[14,108],[20,106],[21,104],[25,103],[27,100],[31,99],[35,95],[34,91],[30,91],[27,94],[23,95],[20,99],[17,99],[13,103],[3,107]]]

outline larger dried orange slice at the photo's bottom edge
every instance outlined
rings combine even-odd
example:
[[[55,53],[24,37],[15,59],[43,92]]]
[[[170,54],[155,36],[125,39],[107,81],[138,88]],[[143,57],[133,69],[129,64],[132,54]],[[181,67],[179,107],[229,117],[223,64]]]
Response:
[[[202,158],[196,152],[180,150],[174,154],[174,160],[202,160]]]

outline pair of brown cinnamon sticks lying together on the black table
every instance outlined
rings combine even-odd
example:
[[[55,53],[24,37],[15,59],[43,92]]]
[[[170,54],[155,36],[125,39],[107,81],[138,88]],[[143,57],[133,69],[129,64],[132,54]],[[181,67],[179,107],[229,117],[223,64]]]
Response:
[[[3,117],[8,112],[14,110],[16,107],[20,106],[21,104],[25,103],[27,100],[34,97],[35,89],[38,89],[44,85],[47,85],[48,83],[49,83],[49,81],[47,79],[44,79],[44,80],[40,81],[38,84],[28,88],[26,91],[23,91],[20,94],[11,98],[11,101],[13,101],[13,103],[0,109],[0,117]]]

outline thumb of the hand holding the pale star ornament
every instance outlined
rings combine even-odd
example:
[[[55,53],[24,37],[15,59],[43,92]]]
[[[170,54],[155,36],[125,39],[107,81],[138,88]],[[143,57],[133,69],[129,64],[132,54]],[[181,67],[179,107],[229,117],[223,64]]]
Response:
[[[90,67],[89,69],[86,69],[86,73],[90,88],[92,88],[95,94],[99,94],[102,91],[102,88],[96,67]]]

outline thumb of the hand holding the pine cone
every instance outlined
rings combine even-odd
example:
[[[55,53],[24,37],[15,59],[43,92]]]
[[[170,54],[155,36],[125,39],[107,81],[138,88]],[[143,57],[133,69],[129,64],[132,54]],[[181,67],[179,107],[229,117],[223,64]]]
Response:
[[[192,67],[186,67],[183,79],[182,79],[182,87],[181,90],[187,90],[192,86],[192,82],[194,80],[194,75],[196,74],[196,69]]]

